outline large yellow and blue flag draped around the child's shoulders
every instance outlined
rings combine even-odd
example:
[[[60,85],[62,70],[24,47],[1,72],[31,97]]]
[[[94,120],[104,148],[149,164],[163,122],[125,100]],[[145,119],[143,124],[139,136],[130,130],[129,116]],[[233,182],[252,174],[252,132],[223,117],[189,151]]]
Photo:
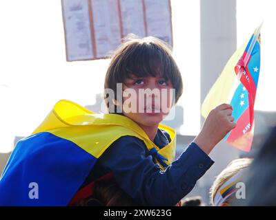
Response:
[[[97,114],[60,100],[32,135],[17,142],[1,175],[0,206],[67,206],[97,159],[124,135],[143,140],[148,150],[155,148],[170,164],[175,157],[175,130],[164,124],[159,129],[171,138],[161,149],[124,115]]]

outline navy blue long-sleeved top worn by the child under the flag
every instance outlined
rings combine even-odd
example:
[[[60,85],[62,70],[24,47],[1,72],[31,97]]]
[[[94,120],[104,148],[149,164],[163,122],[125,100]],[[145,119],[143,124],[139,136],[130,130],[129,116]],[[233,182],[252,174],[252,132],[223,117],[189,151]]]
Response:
[[[154,142],[162,148],[170,142],[170,136],[158,129]],[[126,135],[99,157],[86,183],[112,172],[117,184],[141,206],[175,206],[213,163],[192,142],[175,162],[162,170],[153,162],[142,140]]]

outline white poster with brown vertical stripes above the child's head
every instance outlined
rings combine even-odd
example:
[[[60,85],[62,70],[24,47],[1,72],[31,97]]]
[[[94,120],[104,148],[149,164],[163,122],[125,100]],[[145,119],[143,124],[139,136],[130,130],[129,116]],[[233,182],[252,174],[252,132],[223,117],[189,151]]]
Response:
[[[124,36],[155,36],[172,46],[170,0],[61,0],[67,61],[106,58]]]

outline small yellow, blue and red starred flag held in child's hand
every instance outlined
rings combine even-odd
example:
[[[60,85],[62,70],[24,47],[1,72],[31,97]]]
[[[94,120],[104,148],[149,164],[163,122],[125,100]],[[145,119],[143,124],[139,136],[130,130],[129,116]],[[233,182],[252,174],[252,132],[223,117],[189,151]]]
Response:
[[[233,106],[233,117],[237,126],[224,140],[242,151],[250,151],[254,133],[254,103],[260,70],[259,26],[245,43],[229,59],[221,75],[210,89],[201,114],[208,113],[224,102]]]

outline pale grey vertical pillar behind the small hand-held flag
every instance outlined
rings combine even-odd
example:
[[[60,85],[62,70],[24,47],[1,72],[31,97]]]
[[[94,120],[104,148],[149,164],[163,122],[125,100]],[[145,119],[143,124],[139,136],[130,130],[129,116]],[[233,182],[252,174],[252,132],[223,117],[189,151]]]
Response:
[[[221,73],[228,58],[236,50],[236,1],[201,0],[201,104],[210,87]],[[204,118],[201,118],[201,125]],[[235,157],[239,151],[225,142],[217,144],[210,153],[215,164],[199,179],[190,195],[199,193],[208,203],[208,189],[215,176]]]

